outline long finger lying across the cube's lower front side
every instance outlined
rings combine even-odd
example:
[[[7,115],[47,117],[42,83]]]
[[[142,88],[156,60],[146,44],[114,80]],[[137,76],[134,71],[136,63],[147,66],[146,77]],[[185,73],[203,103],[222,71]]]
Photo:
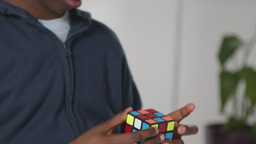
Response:
[[[110,139],[112,143],[120,143],[120,141],[124,141],[124,143],[135,143],[139,141],[147,140],[151,137],[155,137],[159,134],[158,128],[149,128],[146,130],[139,130],[135,133],[125,133],[125,134],[112,134],[107,139]]]

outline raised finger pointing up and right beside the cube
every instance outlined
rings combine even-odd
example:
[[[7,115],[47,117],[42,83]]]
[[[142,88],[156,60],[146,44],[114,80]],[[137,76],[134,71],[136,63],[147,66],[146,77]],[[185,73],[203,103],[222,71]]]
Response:
[[[182,119],[187,117],[194,110],[195,110],[195,105],[188,104],[188,105],[182,107],[181,109],[170,113],[168,116],[171,116],[176,122],[181,122]]]

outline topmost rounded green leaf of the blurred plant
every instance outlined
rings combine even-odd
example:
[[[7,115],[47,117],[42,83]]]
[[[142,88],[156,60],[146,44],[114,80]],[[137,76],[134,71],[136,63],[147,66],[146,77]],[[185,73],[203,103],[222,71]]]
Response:
[[[242,40],[240,40],[235,35],[226,35],[222,40],[222,45],[219,51],[219,62],[221,65],[235,53],[235,51],[242,45]]]

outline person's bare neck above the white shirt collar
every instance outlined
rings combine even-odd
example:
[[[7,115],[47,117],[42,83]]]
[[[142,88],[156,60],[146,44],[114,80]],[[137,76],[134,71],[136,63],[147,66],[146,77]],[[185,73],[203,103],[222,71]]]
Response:
[[[56,19],[65,13],[65,11],[54,11],[46,7],[43,3],[35,0],[4,0],[10,4],[25,9],[28,13],[37,19],[50,20]]]

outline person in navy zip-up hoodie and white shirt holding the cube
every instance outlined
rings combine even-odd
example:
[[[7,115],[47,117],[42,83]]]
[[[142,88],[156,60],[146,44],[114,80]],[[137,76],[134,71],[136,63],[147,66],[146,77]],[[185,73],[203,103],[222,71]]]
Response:
[[[0,143],[183,143],[197,133],[178,124],[189,104],[170,114],[173,141],[154,128],[120,134],[141,101],[117,37],[80,5],[0,1]]]

